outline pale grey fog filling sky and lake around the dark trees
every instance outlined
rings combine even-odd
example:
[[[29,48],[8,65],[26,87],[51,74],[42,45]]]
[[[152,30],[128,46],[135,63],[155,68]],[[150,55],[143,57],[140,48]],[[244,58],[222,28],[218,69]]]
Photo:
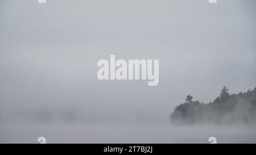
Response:
[[[256,86],[254,0],[0,2],[0,143],[255,143],[254,126],[174,126],[190,94]],[[97,62],[158,59],[159,84]]]

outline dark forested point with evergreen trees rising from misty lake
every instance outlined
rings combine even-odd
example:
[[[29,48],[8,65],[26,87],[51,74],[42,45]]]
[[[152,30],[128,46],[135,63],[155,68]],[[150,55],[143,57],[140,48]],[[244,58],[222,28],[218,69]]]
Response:
[[[204,104],[187,95],[170,115],[173,124],[256,124],[256,87],[245,93],[229,94],[223,87],[213,102]]]

